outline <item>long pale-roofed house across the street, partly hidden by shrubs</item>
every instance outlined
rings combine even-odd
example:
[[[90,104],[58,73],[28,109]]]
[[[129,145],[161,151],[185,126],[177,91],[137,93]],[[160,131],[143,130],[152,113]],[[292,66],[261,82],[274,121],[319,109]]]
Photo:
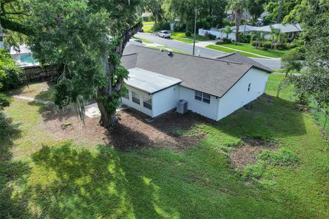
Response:
[[[280,29],[282,34],[286,34],[287,37],[289,38],[289,40],[293,40],[295,37],[297,37],[300,32],[302,31],[302,27],[300,27],[300,24],[296,24],[296,25],[291,25],[291,24],[287,24],[287,25],[282,25],[282,24],[276,24],[276,25],[272,25],[273,28],[276,29]],[[228,38],[230,38],[231,40],[235,40],[235,26],[230,27],[232,29],[232,34],[229,34]],[[210,30],[206,30],[206,29],[199,29],[199,35],[200,36],[205,36],[206,32],[217,36],[217,38],[226,38],[226,34],[224,34],[222,31],[225,28],[221,28],[221,29],[216,29],[216,28],[211,28]],[[240,25],[239,27],[239,32],[240,33],[245,33],[245,34],[252,34],[255,31],[261,31],[261,32],[265,32],[264,38],[266,40],[269,40],[271,38],[271,35],[269,34],[271,32],[271,27],[268,26],[264,26],[264,27],[254,27],[254,26],[250,26],[250,25]]]

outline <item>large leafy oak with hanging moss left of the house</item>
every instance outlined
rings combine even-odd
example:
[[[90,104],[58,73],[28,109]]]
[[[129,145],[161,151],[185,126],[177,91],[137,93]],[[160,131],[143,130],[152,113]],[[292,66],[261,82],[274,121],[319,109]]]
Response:
[[[139,1],[5,1],[21,3],[19,7],[29,13],[17,14],[24,16],[21,21],[0,16],[2,27],[27,34],[35,57],[42,64],[60,67],[56,103],[75,103],[83,116],[84,102],[93,99],[103,127],[114,125],[128,75],[120,58],[127,41],[142,26],[136,16]]]

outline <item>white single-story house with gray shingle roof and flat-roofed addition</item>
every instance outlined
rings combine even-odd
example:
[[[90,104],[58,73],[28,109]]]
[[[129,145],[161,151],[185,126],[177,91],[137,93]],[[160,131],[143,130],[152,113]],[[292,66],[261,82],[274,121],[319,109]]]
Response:
[[[262,95],[272,72],[239,53],[210,59],[133,44],[121,62],[130,72],[122,103],[151,117],[183,99],[187,110],[220,120]]]

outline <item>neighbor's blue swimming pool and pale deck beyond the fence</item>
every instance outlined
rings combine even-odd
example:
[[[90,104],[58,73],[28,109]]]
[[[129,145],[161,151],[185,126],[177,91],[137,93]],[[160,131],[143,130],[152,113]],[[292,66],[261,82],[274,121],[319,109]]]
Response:
[[[12,59],[19,66],[37,66],[38,61],[32,57],[32,51],[25,44],[20,45],[19,48],[11,47],[10,55]]]

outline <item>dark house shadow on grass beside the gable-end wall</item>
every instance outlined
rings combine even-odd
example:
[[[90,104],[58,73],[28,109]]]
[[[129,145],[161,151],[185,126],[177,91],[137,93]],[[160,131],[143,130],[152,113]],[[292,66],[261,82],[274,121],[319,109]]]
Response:
[[[295,103],[263,94],[214,126],[230,136],[243,138],[284,138],[306,133],[303,112]]]

